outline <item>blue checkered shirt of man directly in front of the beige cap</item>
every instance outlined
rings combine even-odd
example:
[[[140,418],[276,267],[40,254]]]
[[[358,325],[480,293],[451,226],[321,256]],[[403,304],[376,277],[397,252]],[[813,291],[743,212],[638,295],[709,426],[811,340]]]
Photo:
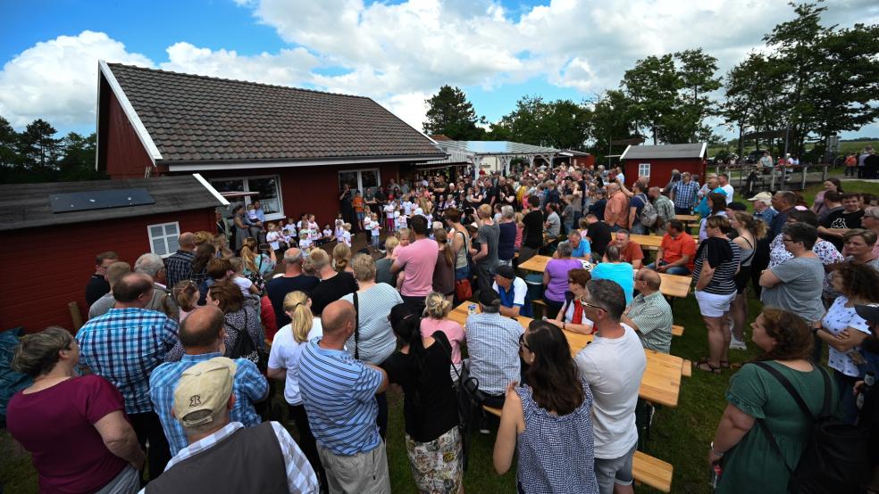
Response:
[[[156,415],[162,423],[171,454],[176,455],[187,446],[186,432],[171,410],[174,405],[174,388],[180,382],[183,371],[199,362],[222,357],[222,353],[203,353],[201,355],[183,355],[180,362],[165,362],[155,367],[149,376],[149,397],[153,401]],[[232,380],[232,393],[235,394],[235,406],[229,413],[229,420],[240,422],[245,427],[254,427],[262,422],[256,413],[254,402],[264,399],[269,392],[269,383],[265,380],[255,364],[247,358],[236,358],[235,378]]]

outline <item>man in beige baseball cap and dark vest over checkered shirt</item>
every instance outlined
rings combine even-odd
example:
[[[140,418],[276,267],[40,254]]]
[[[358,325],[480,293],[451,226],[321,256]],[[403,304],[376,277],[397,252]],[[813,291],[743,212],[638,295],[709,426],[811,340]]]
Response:
[[[277,422],[230,422],[238,365],[215,357],[189,367],[174,389],[173,414],[188,447],[141,492],[316,492],[306,456]]]

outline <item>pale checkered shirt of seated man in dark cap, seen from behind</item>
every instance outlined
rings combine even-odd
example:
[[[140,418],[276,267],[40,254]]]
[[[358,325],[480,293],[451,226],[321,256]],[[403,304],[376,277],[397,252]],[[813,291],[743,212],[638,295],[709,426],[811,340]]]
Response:
[[[519,381],[519,335],[522,325],[500,314],[480,313],[467,317],[467,353],[470,375],[479,379],[479,389],[491,395],[506,392],[511,381]]]

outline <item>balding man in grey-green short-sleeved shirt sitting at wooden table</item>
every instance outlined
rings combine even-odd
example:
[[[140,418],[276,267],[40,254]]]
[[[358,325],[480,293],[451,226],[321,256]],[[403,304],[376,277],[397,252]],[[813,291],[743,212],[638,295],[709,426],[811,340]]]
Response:
[[[656,271],[640,269],[635,275],[635,290],[640,293],[621,320],[638,333],[644,348],[668,353],[672,346],[672,307],[659,292],[660,284],[662,277]]]

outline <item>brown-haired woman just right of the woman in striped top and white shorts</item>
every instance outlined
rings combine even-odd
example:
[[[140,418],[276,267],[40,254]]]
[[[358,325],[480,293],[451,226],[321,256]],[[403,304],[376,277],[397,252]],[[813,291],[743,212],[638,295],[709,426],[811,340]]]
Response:
[[[766,223],[754,218],[745,211],[735,211],[730,218],[730,225],[738,232],[733,242],[739,246],[741,264],[735,278],[735,299],[733,299],[733,340],[730,348],[747,350],[745,345],[745,321],[748,319],[748,293],[745,288],[751,274],[751,261],[754,260],[757,241],[766,236]]]

